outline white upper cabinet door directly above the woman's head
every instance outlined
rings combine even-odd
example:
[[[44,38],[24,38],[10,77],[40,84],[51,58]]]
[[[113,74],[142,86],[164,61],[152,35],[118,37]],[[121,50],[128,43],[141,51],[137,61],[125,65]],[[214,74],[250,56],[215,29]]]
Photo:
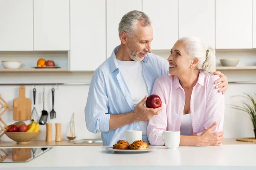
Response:
[[[215,47],[215,0],[179,0],[179,38],[187,36]]]

